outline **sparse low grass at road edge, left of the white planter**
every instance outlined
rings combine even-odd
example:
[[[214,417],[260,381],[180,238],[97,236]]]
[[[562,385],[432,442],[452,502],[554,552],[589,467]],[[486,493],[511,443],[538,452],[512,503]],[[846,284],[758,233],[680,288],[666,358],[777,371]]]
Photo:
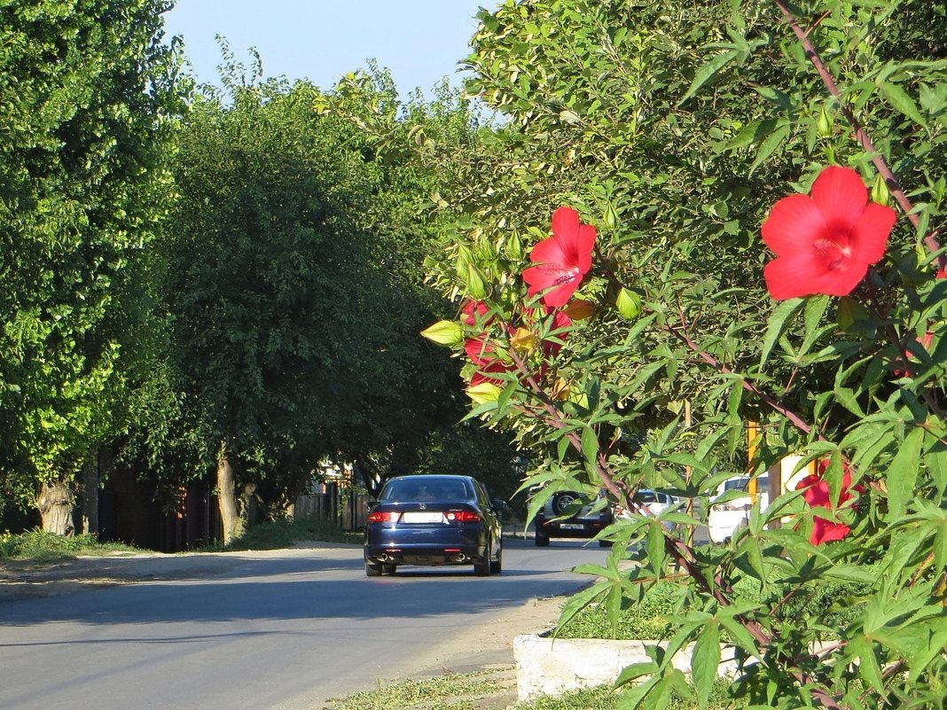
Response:
[[[375,690],[330,700],[331,710],[475,710],[478,700],[500,694],[506,686],[495,673],[452,673],[420,681],[379,685]]]

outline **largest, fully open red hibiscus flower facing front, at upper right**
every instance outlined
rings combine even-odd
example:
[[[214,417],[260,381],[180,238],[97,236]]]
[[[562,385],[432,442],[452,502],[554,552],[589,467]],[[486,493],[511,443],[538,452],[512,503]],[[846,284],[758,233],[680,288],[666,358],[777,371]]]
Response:
[[[822,170],[811,196],[783,198],[763,222],[763,241],[777,255],[763,269],[766,289],[777,301],[848,295],[884,256],[895,217],[890,207],[868,202],[854,170]]]

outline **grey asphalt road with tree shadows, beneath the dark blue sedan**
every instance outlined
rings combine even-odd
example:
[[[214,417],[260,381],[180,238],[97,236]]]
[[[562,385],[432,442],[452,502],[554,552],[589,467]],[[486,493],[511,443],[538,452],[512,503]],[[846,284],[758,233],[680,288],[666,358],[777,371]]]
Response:
[[[530,598],[579,589],[588,578],[568,570],[603,560],[594,545],[508,540],[494,577],[465,566],[368,578],[361,548],[287,550],[189,578],[9,601],[0,708],[311,709],[452,669],[503,636]]]

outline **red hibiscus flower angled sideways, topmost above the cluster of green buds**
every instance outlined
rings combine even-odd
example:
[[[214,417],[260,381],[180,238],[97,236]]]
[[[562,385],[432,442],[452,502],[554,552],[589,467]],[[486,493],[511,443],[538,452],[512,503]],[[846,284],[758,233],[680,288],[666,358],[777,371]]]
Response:
[[[594,245],[595,227],[579,222],[576,210],[560,207],[553,212],[552,237],[533,247],[529,260],[536,266],[523,271],[529,295],[543,293],[546,306],[564,306],[592,268]]]

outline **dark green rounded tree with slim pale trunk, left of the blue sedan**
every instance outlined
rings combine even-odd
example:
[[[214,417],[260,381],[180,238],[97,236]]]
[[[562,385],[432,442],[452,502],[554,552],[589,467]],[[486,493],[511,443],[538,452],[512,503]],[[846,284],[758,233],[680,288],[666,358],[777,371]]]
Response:
[[[331,451],[327,425],[358,417],[374,277],[356,220],[372,176],[313,120],[313,87],[224,79],[229,103],[199,98],[180,136],[162,291],[229,541],[239,481],[252,486],[284,452],[314,468]]]

